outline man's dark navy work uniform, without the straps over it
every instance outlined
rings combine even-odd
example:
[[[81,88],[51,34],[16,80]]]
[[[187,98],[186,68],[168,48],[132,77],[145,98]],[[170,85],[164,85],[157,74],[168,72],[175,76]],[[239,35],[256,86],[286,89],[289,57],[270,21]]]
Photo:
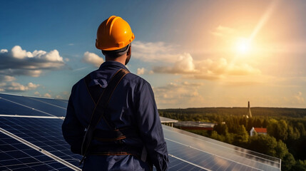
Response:
[[[76,83],[68,101],[66,118],[62,125],[63,137],[71,145],[71,151],[80,154],[85,128],[91,120],[95,99],[108,85],[111,77],[126,66],[116,61],[102,63],[97,71],[91,73],[88,88],[97,93],[90,95],[86,83],[81,79]],[[151,170],[153,164],[157,170],[168,170],[168,152],[163,138],[153,90],[143,78],[128,73],[113,92],[106,113],[111,114],[111,122],[116,128],[133,128],[138,133],[136,138],[122,141],[128,147],[141,149],[146,147],[148,157],[144,162],[136,155],[88,155],[83,170]],[[101,120],[98,130],[109,130],[105,120]],[[92,140],[91,145],[107,147],[107,143]],[[151,164],[149,164],[151,163]]]

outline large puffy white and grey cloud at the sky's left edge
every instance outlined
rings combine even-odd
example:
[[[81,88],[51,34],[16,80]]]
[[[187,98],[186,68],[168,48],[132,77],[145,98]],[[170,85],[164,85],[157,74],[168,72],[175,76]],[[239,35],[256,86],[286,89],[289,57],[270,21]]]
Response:
[[[50,52],[23,50],[14,46],[11,51],[1,49],[0,75],[40,76],[44,70],[57,70],[65,65],[57,50]]]

